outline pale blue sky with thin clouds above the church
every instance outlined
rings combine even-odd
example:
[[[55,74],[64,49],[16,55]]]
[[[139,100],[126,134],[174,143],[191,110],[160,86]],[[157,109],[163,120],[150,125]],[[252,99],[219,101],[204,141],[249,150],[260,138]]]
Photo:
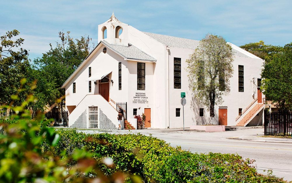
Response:
[[[145,32],[194,40],[212,33],[238,46],[259,40],[281,46],[292,42],[290,0],[6,0],[0,5],[0,35],[20,31],[30,59],[48,51],[62,30],[74,38],[89,35],[97,45],[98,24],[112,11],[121,22]]]

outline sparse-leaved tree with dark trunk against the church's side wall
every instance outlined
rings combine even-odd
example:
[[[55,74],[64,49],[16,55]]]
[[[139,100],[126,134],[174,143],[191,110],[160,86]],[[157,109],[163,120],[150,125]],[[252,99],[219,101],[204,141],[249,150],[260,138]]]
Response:
[[[210,124],[214,122],[214,106],[223,102],[230,92],[233,73],[232,48],[221,36],[208,34],[187,59],[187,70],[194,95],[210,111]]]

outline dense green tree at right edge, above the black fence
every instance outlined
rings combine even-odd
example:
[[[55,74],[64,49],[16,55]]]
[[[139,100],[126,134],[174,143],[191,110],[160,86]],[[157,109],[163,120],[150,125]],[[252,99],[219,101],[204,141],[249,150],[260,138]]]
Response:
[[[272,55],[262,72],[261,90],[267,100],[278,107],[292,110],[292,42]]]

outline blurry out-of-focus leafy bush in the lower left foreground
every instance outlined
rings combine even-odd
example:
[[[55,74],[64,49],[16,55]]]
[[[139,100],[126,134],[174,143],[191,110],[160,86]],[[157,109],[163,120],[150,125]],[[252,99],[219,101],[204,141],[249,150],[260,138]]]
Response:
[[[85,134],[75,131],[77,139],[60,138],[46,125],[49,121],[44,121],[43,114],[31,120],[26,107],[34,100],[31,95],[21,106],[3,106],[16,113],[17,121],[0,123],[0,183],[141,182],[137,176],[118,171],[105,175],[100,167],[113,165],[109,158],[97,158],[98,154],[82,148]]]

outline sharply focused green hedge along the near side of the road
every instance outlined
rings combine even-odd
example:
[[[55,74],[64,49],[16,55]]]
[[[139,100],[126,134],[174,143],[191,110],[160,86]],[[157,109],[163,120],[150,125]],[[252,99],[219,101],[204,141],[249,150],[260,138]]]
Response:
[[[286,182],[273,176],[259,175],[253,160],[237,154],[191,153],[173,148],[165,141],[141,134],[84,134],[76,130],[58,130],[60,141],[56,155],[74,148],[86,148],[100,157],[110,157],[114,166],[103,166],[111,175],[129,172],[140,175],[144,182]]]

